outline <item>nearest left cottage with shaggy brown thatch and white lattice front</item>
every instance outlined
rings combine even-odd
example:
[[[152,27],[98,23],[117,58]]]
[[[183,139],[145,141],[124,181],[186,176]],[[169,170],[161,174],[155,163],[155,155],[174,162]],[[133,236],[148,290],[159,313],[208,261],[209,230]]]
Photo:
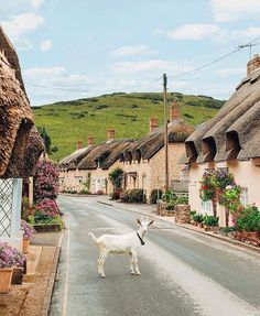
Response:
[[[0,240],[21,247],[22,178],[44,150],[33,122],[18,55],[0,26]]]

